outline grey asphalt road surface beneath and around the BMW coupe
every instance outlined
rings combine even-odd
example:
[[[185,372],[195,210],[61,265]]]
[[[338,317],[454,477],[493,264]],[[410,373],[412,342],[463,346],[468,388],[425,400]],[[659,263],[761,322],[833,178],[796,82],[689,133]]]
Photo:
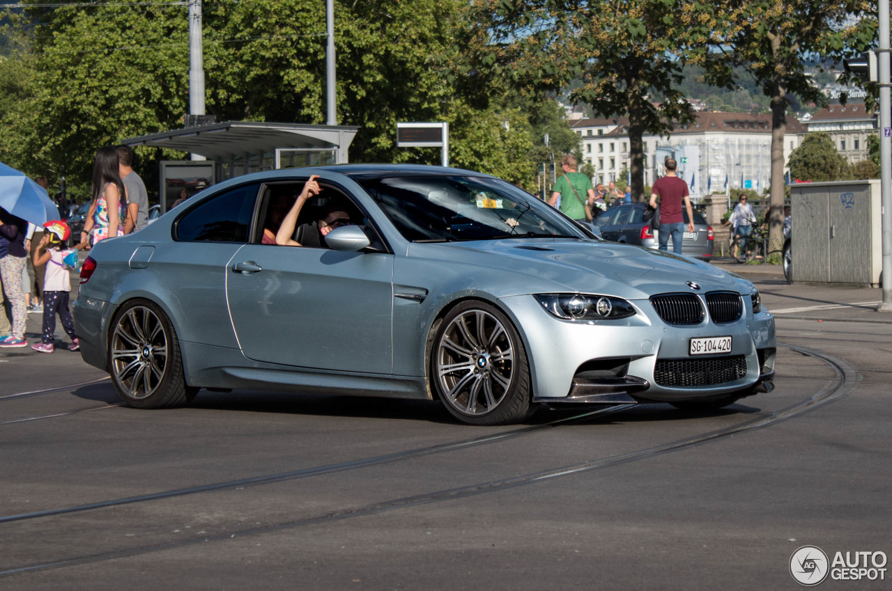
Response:
[[[744,267],[777,388],[706,415],[481,428],[244,390],[139,411],[76,353],[0,351],[0,589],[795,589],[800,546],[892,554],[880,291]]]

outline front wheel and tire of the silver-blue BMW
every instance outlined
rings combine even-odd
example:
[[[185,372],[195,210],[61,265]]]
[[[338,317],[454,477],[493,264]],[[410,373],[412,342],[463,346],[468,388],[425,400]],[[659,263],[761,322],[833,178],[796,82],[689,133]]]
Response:
[[[459,304],[436,329],[431,382],[447,410],[476,425],[516,423],[532,415],[524,344],[499,309]]]

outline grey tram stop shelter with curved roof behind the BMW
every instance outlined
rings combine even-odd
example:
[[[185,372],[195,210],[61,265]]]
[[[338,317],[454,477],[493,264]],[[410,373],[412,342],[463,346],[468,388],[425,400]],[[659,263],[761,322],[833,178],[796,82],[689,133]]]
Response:
[[[161,209],[180,196],[234,176],[289,167],[346,164],[359,127],[225,121],[131,137],[129,146],[188,152],[205,160],[161,162]]]

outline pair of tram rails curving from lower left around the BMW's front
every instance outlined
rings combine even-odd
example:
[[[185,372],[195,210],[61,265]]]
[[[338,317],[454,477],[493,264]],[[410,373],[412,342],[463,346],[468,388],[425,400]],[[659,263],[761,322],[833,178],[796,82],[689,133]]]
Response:
[[[149,554],[153,552],[159,552],[164,550],[172,550],[177,548],[182,548],[186,546],[196,546],[196,545],[205,545],[210,544],[217,541],[224,541],[233,538],[247,538],[250,536],[262,535],[265,533],[274,532],[277,530],[283,529],[293,529],[298,527],[304,527],[311,524],[320,524],[326,522],[335,522],[335,521],[343,521],[346,519],[351,519],[353,517],[360,517],[365,515],[370,515],[374,513],[384,513],[388,511],[399,510],[403,508],[409,508],[417,505],[426,505],[431,503],[438,503],[442,501],[449,500],[457,500],[464,497],[472,497],[475,495],[487,494],[491,492],[497,492],[500,490],[505,490],[508,488],[520,487],[528,484],[533,484],[537,482],[547,481],[554,478],[560,478],[569,476],[576,473],[582,472],[591,472],[594,470],[599,470],[603,468],[608,468],[620,464],[627,464],[632,462],[637,462],[639,460],[648,459],[656,456],[661,456],[668,453],[673,453],[675,451],[680,451],[682,449],[687,449],[690,447],[696,447],[700,445],[704,445],[706,443],[723,440],[725,438],[738,435],[740,433],[755,431],[758,429],[762,429],[764,427],[770,426],[774,423],[779,423],[782,421],[786,421],[790,418],[793,418],[798,415],[803,415],[814,408],[829,404],[839,398],[843,398],[847,396],[847,394],[855,389],[858,386],[858,383],[855,379],[855,367],[852,365],[848,365],[847,362],[842,361],[836,357],[831,357],[827,354],[822,353],[821,351],[816,351],[814,349],[805,349],[802,347],[779,343],[780,347],[784,347],[793,351],[797,351],[800,354],[816,357],[822,359],[827,363],[835,372],[835,378],[822,390],[814,393],[814,395],[809,398],[805,398],[804,400],[800,400],[794,405],[787,406],[785,408],[780,409],[779,411],[772,412],[767,415],[759,415],[750,420],[744,421],[742,423],[737,423],[734,425],[730,425],[723,429],[707,431],[703,433],[698,433],[692,435],[690,437],[684,439],[677,439],[668,443],[659,444],[653,447],[646,447],[638,450],[634,450],[632,452],[608,456],[593,459],[590,461],[578,463],[578,464],[570,464],[565,466],[558,466],[555,468],[550,468],[547,470],[542,470],[539,472],[529,472],[513,477],[508,477],[500,480],[490,480],[485,482],[479,482],[476,484],[458,487],[458,488],[446,488],[442,490],[436,490],[430,493],[425,493],[412,497],[396,497],[389,500],[384,500],[381,502],[377,502],[369,505],[359,505],[352,507],[345,507],[341,509],[335,509],[326,513],[320,513],[317,515],[312,515],[308,517],[303,517],[299,519],[294,519],[291,521],[278,521],[275,523],[269,523],[266,525],[260,525],[258,527],[253,528],[244,528],[244,529],[230,529],[226,532],[220,533],[211,537],[202,537],[202,538],[191,538],[189,540],[182,540],[176,542],[169,543],[157,543],[150,546],[137,546],[132,548],[120,548],[115,550],[109,550],[107,552],[99,552],[95,554],[86,554],[80,556],[71,556],[69,558],[61,558],[55,560],[46,560],[43,562],[35,562],[31,564],[22,564],[19,566],[9,566],[5,568],[0,568],[0,577],[9,576],[16,573],[25,573],[29,571],[37,571],[37,570],[46,570],[46,569],[54,569],[54,568],[62,568],[68,566],[75,566],[79,564],[86,564],[89,562],[103,562],[118,558],[126,558],[137,556],[141,554]],[[629,405],[631,406],[631,405]],[[628,406],[627,406],[628,407]],[[49,510],[44,512],[35,512],[35,513],[22,513],[20,515],[9,515],[5,517],[0,517],[0,524],[4,522],[10,521],[25,521],[39,518],[51,518],[53,516],[62,515],[66,513],[76,513],[76,512],[84,512],[91,511],[95,509],[101,509],[106,507],[111,507],[115,505],[125,505],[131,503],[138,502],[146,502],[152,500],[159,500],[162,498],[169,498],[175,496],[184,496],[184,495],[192,495],[203,492],[210,492],[211,490],[219,490],[222,488],[236,488],[236,487],[244,487],[251,485],[262,485],[268,484],[272,482],[280,482],[283,480],[293,480],[297,478],[307,478],[311,476],[317,476],[322,474],[329,474],[332,472],[340,472],[343,470],[351,470],[356,468],[362,468],[367,466],[372,466],[376,464],[384,464],[384,463],[392,463],[399,462],[401,460],[406,460],[409,458],[419,457],[419,456],[428,456],[436,453],[448,452],[456,449],[461,449],[465,447],[477,446],[477,445],[486,445],[491,442],[500,441],[509,438],[520,437],[526,434],[530,434],[533,432],[543,431],[544,429],[548,429],[555,426],[561,426],[563,424],[568,423],[580,423],[582,421],[588,420],[594,416],[598,415],[608,415],[612,414],[609,411],[620,412],[621,410],[625,410],[625,408],[616,408],[611,407],[607,409],[602,409],[602,411],[595,411],[591,415],[576,415],[574,417],[570,417],[568,419],[564,419],[560,422],[549,423],[546,425],[538,425],[534,427],[526,427],[524,429],[519,429],[515,431],[508,431],[506,433],[500,433],[491,436],[484,436],[482,438],[477,439],[469,439],[467,441],[462,442],[453,442],[450,444],[442,444],[441,446],[434,447],[425,447],[417,450],[409,450],[407,452],[402,452],[398,454],[393,454],[391,456],[378,456],[376,458],[366,458],[355,460],[351,462],[346,462],[343,464],[329,464],[326,466],[318,466],[316,468],[310,468],[303,471],[295,471],[295,472],[281,472],[278,474],[271,474],[267,476],[260,476],[254,479],[244,479],[244,480],[232,480],[228,482],[221,482],[201,487],[194,488],[183,488],[179,490],[161,492],[153,495],[145,495],[142,497],[128,497],[124,499],[117,499],[112,501],[106,501],[103,503],[96,503],[93,505],[80,505],[78,507],[69,507],[66,509],[57,509],[57,510]]]

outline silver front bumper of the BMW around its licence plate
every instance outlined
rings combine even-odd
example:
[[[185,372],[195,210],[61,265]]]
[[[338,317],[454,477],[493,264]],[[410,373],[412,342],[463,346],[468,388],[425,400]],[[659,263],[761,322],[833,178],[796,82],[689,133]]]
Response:
[[[632,301],[638,313],[615,321],[560,320],[529,295],[500,303],[521,330],[536,401],[708,399],[773,377],[774,319],[767,311],[752,314],[745,306],[733,323],[678,326],[665,324],[648,300]],[[689,355],[691,338],[716,336],[732,337],[730,353]]]

